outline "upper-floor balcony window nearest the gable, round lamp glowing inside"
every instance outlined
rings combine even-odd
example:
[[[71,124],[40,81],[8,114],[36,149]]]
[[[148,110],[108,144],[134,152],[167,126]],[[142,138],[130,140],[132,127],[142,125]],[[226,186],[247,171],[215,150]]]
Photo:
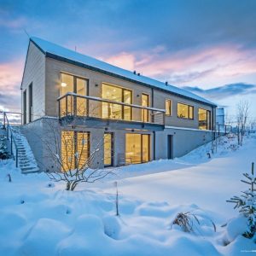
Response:
[[[67,94],[67,92],[74,92],[78,95],[86,96],[87,87],[87,79],[82,79],[67,73],[61,73],[61,96]],[[86,115],[86,100],[84,98],[72,98],[71,96],[68,96],[67,102],[61,101],[61,115],[71,115],[73,113],[76,113],[79,116]]]

